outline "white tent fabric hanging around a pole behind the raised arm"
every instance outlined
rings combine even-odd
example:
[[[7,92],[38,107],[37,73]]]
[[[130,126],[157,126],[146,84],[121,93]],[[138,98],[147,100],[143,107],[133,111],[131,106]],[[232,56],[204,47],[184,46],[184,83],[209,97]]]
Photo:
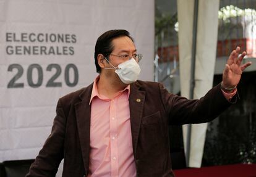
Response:
[[[217,0],[199,1],[194,99],[204,96],[213,84],[218,35],[218,9],[219,1]],[[177,1],[177,12],[181,95],[189,97],[194,1]],[[207,123],[192,125],[188,167],[201,166],[206,130]],[[186,147],[187,125],[183,127],[183,137],[184,147]]]

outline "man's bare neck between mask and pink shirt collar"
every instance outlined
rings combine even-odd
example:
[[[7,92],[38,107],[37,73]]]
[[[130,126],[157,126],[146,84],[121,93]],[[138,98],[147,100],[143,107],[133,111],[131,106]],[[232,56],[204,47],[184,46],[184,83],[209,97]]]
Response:
[[[127,86],[127,84],[122,83],[120,80],[107,78],[106,75],[100,75],[96,84],[98,93],[109,99],[113,99],[119,91],[122,91]]]

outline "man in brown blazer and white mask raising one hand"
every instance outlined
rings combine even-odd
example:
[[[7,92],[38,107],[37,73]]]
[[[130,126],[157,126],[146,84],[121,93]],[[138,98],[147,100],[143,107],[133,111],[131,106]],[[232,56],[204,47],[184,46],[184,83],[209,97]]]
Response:
[[[168,125],[203,123],[236,102],[245,52],[229,56],[223,81],[199,100],[168,93],[160,83],[137,81],[142,56],[126,30],[110,30],[95,46],[100,75],[59,99],[53,129],[27,177],[174,176]]]

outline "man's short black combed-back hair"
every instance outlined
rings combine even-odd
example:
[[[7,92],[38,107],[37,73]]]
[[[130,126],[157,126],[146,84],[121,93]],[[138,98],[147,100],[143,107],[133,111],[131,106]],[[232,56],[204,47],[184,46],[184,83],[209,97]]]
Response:
[[[94,52],[94,59],[95,59],[95,66],[96,66],[96,72],[100,73],[100,65],[98,64],[98,54],[103,54],[106,58],[109,57],[109,54],[114,49],[114,46],[112,44],[113,39],[127,36],[134,42],[134,39],[132,36],[130,36],[130,33],[126,30],[109,30],[103,33],[98,39],[95,44],[95,52]]]

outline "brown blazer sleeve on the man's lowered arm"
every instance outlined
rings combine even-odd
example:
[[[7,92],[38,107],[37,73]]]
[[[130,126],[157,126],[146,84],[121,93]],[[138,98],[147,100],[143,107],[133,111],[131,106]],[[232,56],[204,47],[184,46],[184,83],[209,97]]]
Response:
[[[30,166],[26,177],[55,176],[59,163],[64,157],[64,137],[66,131],[66,117],[62,109],[61,99],[56,108],[56,117],[53,121],[51,134],[46,139],[35,162]]]

